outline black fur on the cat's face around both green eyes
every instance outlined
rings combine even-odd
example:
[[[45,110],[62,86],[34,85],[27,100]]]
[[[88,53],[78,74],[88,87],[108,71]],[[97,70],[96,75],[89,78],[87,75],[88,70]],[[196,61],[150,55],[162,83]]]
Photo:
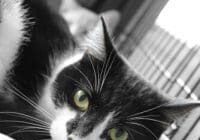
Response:
[[[111,123],[107,129],[112,127],[127,129],[134,136],[132,138],[130,137],[130,140],[155,140],[155,137],[160,137],[161,133],[166,128],[166,124],[164,125],[149,120],[137,120],[135,122],[142,125],[137,126],[131,124],[131,122],[134,121],[130,121],[128,116],[163,105],[166,103],[166,100],[130,70],[110,43],[106,32],[105,36],[107,36],[107,49],[106,57],[103,61],[86,54],[80,62],[65,68],[55,81],[54,86],[56,90],[54,92],[54,102],[58,107],[68,102],[69,106],[76,109],[72,102],[72,96],[76,89],[84,89],[90,95],[90,108],[84,116],[80,117],[78,115],[76,119],[68,124],[68,132],[73,133],[74,131],[78,131],[79,135],[84,137],[88,135],[96,125],[101,123],[109,112],[115,112],[117,110],[115,113],[119,114],[115,116],[113,123]],[[110,66],[110,69],[105,68],[104,64],[106,63],[108,67]],[[93,67],[98,74],[108,72],[102,90],[94,88],[95,75]],[[80,71],[89,78],[93,88],[90,87],[88,80]],[[102,83],[102,80],[103,79],[100,79],[99,83]],[[81,84],[77,84],[76,81],[79,81]],[[146,112],[142,115],[155,115],[152,119],[169,122],[161,108]],[[86,121],[83,122],[83,120]],[[154,134],[151,134],[151,132],[143,126],[146,126]],[[107,129],[102,134],[102,138],[109,139],[107,137]],[[136,132],[134,132],[134,130]],[[138,134],[137,131],[143,133],[144,136]]]

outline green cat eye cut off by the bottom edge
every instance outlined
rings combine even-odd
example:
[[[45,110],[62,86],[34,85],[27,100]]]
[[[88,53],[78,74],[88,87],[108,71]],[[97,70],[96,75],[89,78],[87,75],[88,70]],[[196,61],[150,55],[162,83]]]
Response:
[[[112,128],[108,131],[111,140],[128,140],[128,133],[123,129]]]

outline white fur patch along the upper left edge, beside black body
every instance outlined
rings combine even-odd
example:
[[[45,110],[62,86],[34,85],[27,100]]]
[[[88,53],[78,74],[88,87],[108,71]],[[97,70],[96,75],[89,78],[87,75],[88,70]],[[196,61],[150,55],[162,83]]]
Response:
[[[25,10],[20,0],[0,1],[0,86],[24,39]]]

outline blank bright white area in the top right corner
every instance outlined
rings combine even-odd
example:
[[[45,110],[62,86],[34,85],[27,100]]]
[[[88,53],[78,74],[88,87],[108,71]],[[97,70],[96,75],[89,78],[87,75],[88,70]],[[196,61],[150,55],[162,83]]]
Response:
[[[200,45],[200,0],[169,0],[156,23],[189,46]]]

